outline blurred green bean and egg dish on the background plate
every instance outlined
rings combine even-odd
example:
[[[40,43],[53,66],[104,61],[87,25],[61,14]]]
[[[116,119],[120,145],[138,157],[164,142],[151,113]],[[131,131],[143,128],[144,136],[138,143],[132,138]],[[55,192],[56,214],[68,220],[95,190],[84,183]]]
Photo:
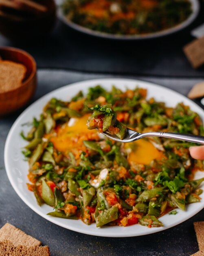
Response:
[[[77,25],[118,35],[164,31],[192,13],[189,0],[64,0],[61,8]]]

